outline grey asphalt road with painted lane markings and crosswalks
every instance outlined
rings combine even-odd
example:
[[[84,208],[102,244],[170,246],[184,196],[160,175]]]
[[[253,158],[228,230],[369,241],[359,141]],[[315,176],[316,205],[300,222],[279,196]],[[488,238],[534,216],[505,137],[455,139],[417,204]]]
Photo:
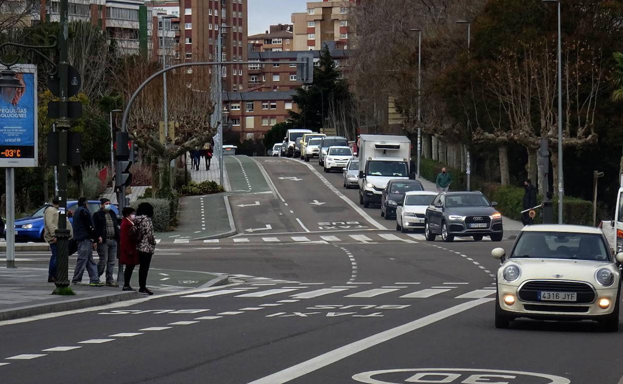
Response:
[[[399,234],[337,172],[257,160],[268,180],[249,179],[270,191],[235,197],[239,241],[162,245],[154,260],[232,284],[0,323],[2,382],[621,383],[621,333],[495,329],[490,251],[511,241]]]

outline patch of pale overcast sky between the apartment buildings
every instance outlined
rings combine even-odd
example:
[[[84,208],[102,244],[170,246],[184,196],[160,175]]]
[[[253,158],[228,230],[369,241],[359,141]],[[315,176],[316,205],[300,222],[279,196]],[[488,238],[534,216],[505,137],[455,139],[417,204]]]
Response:
[[[307,12],[308,0],[249,0],[249,35],[263,34],[269,26],[292,23],[295,12]]]

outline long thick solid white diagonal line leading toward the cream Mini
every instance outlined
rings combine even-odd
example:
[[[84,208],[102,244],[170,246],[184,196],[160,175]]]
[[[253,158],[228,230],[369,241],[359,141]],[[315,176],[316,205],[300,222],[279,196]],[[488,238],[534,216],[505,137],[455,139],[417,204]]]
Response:
[[[315,370],[338,362],[346,357],[374,347],[374,345],[378,345],[388,340],[395,339],[396,337],[402,336],[416,329],[426,327],[427,325],[434,324],[435,322],[446,319],[447,317],[454,316],[455,314],[459,314],[461,312],[465,312],[468,309],[472,309],[490,301],[492,301],[492,299],[478,299],[464,302],[457,306],[450,307],[448,309],[444,309],[443,311],[439,311],[434,314],[430,314],[429,316],[422,317],[421,319],[407,322],[406,324],[402,324],[397,327],[384,330],[383,332],[379,332],[376,335],[371,335],[356,342],[344,345],[343,347],[331,350],[329,352],[326,352],[325,354],[316,356],[305,362],[298,363],[297,365],[293,365],[290,368],[285,368],[284,370],[260,378],[253,382],[250,382],[249,384],[283,384],[290,382],[292,380],[295,380],[296,378],[314,372]]]

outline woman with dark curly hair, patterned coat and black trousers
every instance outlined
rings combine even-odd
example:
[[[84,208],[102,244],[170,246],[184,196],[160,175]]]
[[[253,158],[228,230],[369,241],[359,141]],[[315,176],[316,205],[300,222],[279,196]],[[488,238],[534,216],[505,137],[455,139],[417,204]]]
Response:
[[[149,203],[141,203],[136,208],[135,225],[138,226],[140,241],[136,244],[138,250],[138,292],[152,295],[153,292],[147,288],[147,274],[150,271],[151,257],[156,249],[156,238],[154,237],[154,226],[151,218],[154,215],[154,207]]]

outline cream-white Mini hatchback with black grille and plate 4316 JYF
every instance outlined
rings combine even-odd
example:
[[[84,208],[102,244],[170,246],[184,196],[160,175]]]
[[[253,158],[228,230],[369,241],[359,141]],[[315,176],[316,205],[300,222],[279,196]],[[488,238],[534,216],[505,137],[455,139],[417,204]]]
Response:
[[[619,329],[623,253],[612,256],[599,228],[529,225],[517,236],[497,274],[495,326],[518,317],[594,320]]]

